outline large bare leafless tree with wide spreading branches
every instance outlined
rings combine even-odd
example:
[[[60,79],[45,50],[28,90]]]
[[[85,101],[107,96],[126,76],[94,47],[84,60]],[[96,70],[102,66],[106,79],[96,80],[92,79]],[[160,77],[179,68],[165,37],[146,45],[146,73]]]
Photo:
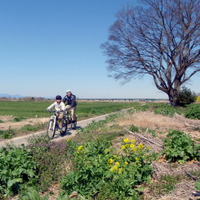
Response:
[[[128,81],[150,75],[176,105],[180,86],[200,71],[200,0],[143,0],[122,9],[102,45],[108,69]]]

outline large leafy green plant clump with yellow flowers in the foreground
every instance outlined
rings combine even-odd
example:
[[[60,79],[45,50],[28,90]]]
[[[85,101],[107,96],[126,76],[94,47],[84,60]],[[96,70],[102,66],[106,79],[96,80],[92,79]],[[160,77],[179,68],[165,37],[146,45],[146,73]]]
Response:
[[[61,188],[67,194],[77,191],[86,198],[138,199],[138,185],[148,181],[152,173],[150,155],[143,144],[137,146],[127,138],[121,151],[114,154],[106,140],[80,145],[74,154],[74,171],[63,177]]]

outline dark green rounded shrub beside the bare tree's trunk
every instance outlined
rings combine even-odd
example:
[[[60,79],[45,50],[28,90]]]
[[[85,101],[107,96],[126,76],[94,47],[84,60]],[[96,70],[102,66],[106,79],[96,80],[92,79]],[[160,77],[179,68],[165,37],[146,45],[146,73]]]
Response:
[[[183,87],[181,92],[178,95],[177,103],[179,106],[186,106],[188,104],[191,104],[195,102],[197,96],[194,92],[192,92],[190,89]]]

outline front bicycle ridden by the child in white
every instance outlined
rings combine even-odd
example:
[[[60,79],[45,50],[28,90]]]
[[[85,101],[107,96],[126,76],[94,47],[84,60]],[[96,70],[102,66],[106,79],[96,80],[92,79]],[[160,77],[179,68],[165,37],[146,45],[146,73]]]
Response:
[[[54,135],[56,133],[56,130],[59,130],[59,124],[58,124],[58,117],[56,115],[57,112],[56,110],[50,110],[49,112],[53,112],[53,115],[51,116],[48,124],[47,124],[47,136],[49,139],[53,139]],[[67,130],[67,121],[66,118],[63,117],[62,119],[62,128],[60,129],[60,134],[64,135]]]

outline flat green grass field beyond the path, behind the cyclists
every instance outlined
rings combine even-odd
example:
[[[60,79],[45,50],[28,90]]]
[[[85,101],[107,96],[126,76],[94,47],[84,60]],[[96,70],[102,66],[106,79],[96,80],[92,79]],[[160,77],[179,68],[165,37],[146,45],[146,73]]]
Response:
[[[0,101],[0,115],[12,115],[19,119],[34,117],[50,117],[51,114],[46,108],[51,102],[31,102],[31,101]],[[132,107],[138,103],[122,102],[78,102],[78,119],[88,118],[95,115],[102,115]]]

